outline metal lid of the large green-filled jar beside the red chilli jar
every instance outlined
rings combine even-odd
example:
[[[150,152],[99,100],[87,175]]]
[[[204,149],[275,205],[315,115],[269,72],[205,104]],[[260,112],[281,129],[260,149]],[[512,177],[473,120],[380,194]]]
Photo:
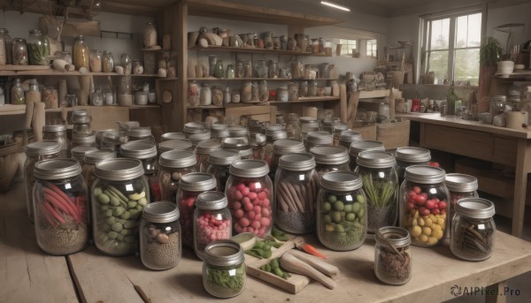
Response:
[[[97,178],[108,181],[124,181],[142,177],[144,170],[140,160],[114,158],[105,159],[96,163],[94,174]]]

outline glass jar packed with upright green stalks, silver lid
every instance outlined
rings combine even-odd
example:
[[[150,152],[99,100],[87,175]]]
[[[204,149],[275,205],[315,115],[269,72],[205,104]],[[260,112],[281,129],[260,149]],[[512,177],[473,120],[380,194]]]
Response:
[[[359,153],[356,160],[359,177],[367,197],[367,232],[376,233],[394,226],[398,212],[398,176],[395,156],[381,150]]]

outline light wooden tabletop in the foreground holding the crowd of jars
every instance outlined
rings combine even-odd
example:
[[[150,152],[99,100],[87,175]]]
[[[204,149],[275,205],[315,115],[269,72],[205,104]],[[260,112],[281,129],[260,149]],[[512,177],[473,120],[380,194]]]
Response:
[[[145,269],[135,256],[100,254],[94,246],[68,257],[52,257],[37,248],[23,186],[16,184],[10,193],[0,194],[0,203],[0,302],[142,302],[134,284],[154,303],[212,302],[202,286],[202,262],[188,249],[177,267],[165,271]],[[412,247],[412,279],[402,286],[381,284],[374,276],[372,239],[355,251],[342,253],[323,248],[315,237],[307,240],[341,270],[334,290],[312,282],[293,295],[248,276],[245,291],[231,301],[439,302],[455,298],[450,292],[454,285],[462,289],[493,285],[503,293],[507,279],[531,271],[531,243],[500,231],[494,254],[486,261],[460,261],[448,244]],[[528,290],[518,291],[530,297]]]

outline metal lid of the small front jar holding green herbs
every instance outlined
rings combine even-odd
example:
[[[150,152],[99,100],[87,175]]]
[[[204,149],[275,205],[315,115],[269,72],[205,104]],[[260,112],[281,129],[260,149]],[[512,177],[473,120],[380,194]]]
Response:
[[[238,266],[245,260],[242,246],[232,240],[216,241],[204,246],[204,261],[212,266]]]

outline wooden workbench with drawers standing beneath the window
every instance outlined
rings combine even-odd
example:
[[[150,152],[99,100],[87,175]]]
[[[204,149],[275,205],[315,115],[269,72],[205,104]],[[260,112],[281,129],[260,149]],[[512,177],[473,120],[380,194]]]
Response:
[[[420,124],[419,145],[515,168],[512,235],[521,237],[531,172],[531,132],[440,114],[397,114]]]

